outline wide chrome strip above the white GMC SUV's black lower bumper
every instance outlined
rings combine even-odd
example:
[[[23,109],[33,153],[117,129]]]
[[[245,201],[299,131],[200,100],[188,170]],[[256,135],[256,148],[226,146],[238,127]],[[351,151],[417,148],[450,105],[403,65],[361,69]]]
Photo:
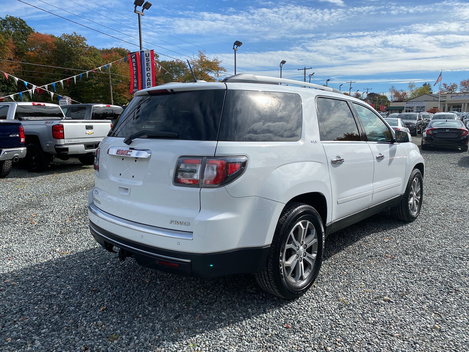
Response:
[[[117,216],[114,216],[114,215],[111,215],[109,213],[102,211],[101,209],[96,207],[94,204],[88,205],[88,210],[90,211],[91,214],[94,214],[105,221],[112,222],[116,225],[125,227],[130,230],[140,231],[140,232],[144,232],[144,233],[148,233],[150,235],[156,235],[156,236],[171,237],[171,238],[185,239],[185,240],[193,239],[192,232],[162,229],[162,228],[155,227],[155,226],[144,225],[138,222],[125,220],[120,217],[117,217]]]

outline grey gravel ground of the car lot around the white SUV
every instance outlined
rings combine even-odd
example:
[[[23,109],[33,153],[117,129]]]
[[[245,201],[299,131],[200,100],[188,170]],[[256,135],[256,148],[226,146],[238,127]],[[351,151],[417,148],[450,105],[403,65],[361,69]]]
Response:
[[[295,301],[252,275],[120,262],[89,234],[92,167],[15,168],[0,180],[0,350],[468,351],[469,156],[422,154],[416,222],[385,211],[331,235],[315,286]]]

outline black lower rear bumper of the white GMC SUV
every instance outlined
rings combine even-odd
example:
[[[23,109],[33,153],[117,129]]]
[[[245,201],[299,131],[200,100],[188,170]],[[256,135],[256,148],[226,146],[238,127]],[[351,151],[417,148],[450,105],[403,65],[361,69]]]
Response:
[[[121,259],[134,257],[146,268],[192,277],[214,277],[261,271],[270,246],[240,248],[217,253],[184,253],[143,245],[117,236],[90,221],[95,240],[107,251],[117,249]],[[117,247],[117,248],[115,248]]]

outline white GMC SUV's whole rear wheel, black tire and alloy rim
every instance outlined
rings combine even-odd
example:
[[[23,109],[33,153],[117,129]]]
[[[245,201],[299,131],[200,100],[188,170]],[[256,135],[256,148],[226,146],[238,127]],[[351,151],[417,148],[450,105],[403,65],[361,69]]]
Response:
[[[263,271],[255,274],[265,291],[285,299],[302,296],[321,268],[324,227],[316,209],[289,203],[280,215]]]

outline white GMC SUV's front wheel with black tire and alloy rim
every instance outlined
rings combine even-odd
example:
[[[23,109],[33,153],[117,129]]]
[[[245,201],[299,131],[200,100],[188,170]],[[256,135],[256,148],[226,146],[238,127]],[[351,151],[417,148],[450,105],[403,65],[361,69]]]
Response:
[[[414,168],[410,174],[406,191],[401,203],[391,208],[393,218],[404,222],[413,222],[420,214],[424,200],[423,178],[420,170]]]

